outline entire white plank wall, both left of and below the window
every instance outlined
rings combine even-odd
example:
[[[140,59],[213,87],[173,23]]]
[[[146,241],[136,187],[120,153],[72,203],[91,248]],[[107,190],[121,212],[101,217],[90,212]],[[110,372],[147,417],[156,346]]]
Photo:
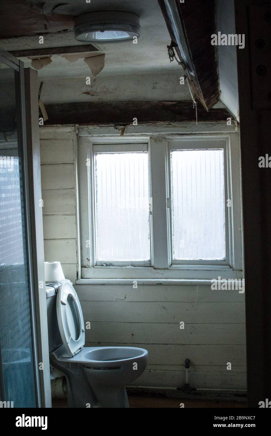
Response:
[[[68,127],[41,130],[45,260],[59,260],[66,278],[77,276],[77,215],[74,151]],[[182,387],[191,360],[195,388],[245,389],[244,294],[211,286],[75,285],[86,346],[132,345],[149,351],[140,386]],[[184,321],[184,330],[180,322]],[[231,362],[231,371],[226,369]]]

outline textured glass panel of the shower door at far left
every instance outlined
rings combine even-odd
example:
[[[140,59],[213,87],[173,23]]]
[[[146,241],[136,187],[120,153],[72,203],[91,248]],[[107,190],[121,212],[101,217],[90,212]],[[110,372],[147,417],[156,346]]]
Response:
[[[22,64],[0,56],[0,400],[38,407]]]

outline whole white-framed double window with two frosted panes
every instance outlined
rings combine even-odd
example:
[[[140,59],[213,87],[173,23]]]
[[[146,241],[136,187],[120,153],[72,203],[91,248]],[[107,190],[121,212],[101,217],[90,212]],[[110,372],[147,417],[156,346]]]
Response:
[[[82,278],[235,277],[238,134],[129,140],[80,138]]]

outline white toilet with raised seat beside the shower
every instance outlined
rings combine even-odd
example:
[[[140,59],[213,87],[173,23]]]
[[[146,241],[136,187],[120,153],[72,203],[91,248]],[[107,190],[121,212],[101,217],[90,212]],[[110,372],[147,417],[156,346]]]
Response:
[[[130,407],[125,386],[145,370],[147,350],[84,347],[84,318],[71,282],[47,283],[46,296],[50,364],[67,379],[68,407]]]

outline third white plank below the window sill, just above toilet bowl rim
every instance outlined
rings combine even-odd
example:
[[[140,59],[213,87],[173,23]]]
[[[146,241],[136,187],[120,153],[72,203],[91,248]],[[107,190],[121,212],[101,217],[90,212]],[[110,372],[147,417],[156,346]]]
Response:
[[[126,344],[244,345],[245,324],[91,322],[86,341]]]

